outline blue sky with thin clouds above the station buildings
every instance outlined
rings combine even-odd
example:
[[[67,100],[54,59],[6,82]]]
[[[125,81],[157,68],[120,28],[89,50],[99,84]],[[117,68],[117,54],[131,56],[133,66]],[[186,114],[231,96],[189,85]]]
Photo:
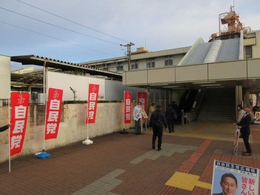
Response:
[[[69,22],[20,1],[110,36]],[[0,55],[34,54],[71,63],[124,56],[125,50],[121,50],[120,44],[124,45],[128,42],[135,44],[131,47],[132,52],[136,51],[138,47],[146,47],[149,51],[159,51],[192,46],[198,37],[202,37],[207,42],[211,34],[218,32],[218,15],[229,12],[230,5],[233,5],[233,0],[20,1],[0,0]],[[259,7],[259,0],[248,0],[246,3],[242,0],[235,0],[235,11],[239,14],[240,22],[244,23],[245,27],[251,27],[252,30],[260,29]],[[64,30],[14,12],[112,43]],[[30,67],[30,65],[11,63],[11,70],[26,67]],[[35,69],[40,68],[35,67]]]

